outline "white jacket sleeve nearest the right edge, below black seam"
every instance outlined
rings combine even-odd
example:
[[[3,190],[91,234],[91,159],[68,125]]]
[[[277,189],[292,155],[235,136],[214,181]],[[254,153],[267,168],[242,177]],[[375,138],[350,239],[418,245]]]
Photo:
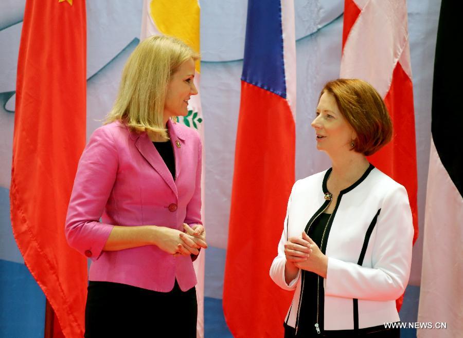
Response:
[[[328,257],[325,294],[393,301],[407,286],[412,262],[413,221],[405,188],[385,196],[376,224],[372,268]]]

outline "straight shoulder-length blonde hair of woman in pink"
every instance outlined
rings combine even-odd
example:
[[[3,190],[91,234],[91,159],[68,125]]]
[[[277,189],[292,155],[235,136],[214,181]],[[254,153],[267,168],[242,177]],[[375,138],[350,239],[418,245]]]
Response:
[[[124,66],[116,101],[104,124],[121,121],[137,132],[169,139],[163,121],[167,86],[182,63],[199,58],[176,37],[153,35],[140,42]]]

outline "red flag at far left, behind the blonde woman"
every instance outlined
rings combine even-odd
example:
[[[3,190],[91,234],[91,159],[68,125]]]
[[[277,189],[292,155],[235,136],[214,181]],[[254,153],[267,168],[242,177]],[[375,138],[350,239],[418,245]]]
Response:
[[[66,337],[83,336],[85,257],[64,221],[85,146],[85,2],[27,0],[17,64],[11,224]],[[55,327],[58,321],[55,321]]]

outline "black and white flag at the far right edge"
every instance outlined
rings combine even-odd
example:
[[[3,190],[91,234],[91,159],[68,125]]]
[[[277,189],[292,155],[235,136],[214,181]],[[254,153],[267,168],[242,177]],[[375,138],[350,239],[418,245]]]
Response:
[[[418,322],[446,323],[447,329],[418,329],[420,338],[463,332],[463,157],[461,156],[461,58],[455,46],[460,2],[442,0],[434,63],[431,152],[424,214],[423,265]]]

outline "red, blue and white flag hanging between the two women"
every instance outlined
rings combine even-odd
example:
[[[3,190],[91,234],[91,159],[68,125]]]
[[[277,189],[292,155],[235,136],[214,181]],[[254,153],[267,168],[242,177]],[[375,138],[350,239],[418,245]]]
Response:
[[[292,0],[249,0],[223,308],[235,337],[283,336],[292,294],[269,269],[295,165]]]

